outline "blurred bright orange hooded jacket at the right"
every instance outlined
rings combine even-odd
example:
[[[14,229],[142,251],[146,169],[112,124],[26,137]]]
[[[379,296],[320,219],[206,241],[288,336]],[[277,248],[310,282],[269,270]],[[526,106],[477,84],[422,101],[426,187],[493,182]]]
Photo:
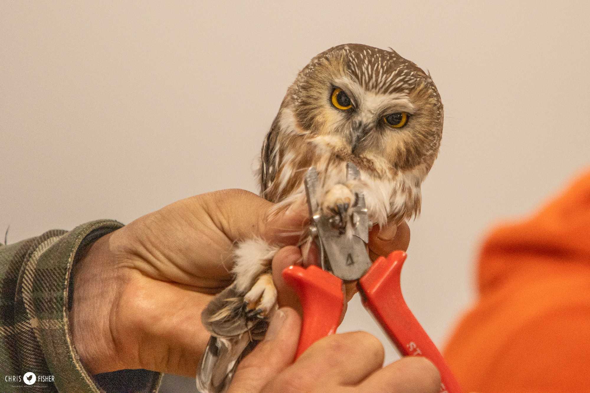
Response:
[[[466,392],[590,392],[590,172],[493,231],[444,356]]]

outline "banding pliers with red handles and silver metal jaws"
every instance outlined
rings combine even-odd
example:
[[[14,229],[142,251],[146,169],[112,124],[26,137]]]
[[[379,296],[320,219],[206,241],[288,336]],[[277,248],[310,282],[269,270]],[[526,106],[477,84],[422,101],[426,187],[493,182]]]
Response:
[[[358,179],[360,173],[348,163],[347,178]],[[324,336],[336,333],[342,320],[345,281],[357,281],[363,306],[391,339],[403,356],[424,356],[441,375],[441,393],[461,393],[441,353],[405,303],[401,292],[401,270],[406,259],[404,251],[394,251],[371,263],[366,244],[369,240],[369,219],[362,192],[356,204],[348,209],[346,229],[342,222],[322,214],[317,202],[318,178],[315,168],[305,179],[310,213],[310,234],[320,252],[322,268],[290,266],[283,270],[283,279],[297,293],[303,308],[303,321],[296,358]]]

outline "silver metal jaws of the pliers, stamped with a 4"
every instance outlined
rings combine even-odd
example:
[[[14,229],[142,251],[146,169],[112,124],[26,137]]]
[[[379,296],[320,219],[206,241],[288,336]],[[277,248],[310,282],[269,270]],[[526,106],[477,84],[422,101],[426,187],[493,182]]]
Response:
[[[359,169],[349,162],[346,164],[346,180],[360,179]],[[348,222],[343,232],[335,225],[335,217],[322,214],[317,201],[319,180],[316,168],[312,166],[305,176],[305,192],[310,216],[310,234],[314,238],[323,270],[330,271],[345,281],[360,279],[371,267],[366,250],[369,243],[369,217],[365,207],[365,195],[356,192],[356,200],[348,209]]]

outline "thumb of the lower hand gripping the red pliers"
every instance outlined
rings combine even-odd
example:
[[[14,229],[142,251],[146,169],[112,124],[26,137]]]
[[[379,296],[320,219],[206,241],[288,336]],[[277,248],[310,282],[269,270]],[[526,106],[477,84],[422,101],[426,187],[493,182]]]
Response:
[[[295,357],[301,319],[289,307],[278,309],[270,320],[266,338],[240,362],[228,393],[258,393]]]

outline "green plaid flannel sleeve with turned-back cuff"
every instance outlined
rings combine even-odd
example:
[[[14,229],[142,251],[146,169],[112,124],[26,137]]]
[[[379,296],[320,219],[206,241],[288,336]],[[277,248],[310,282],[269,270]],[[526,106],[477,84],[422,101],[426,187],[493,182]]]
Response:
[[[93,221],[0,245],[0,392],[158,391],[157,372],[90,375],[68,329],[77,252],[122,226]]]

